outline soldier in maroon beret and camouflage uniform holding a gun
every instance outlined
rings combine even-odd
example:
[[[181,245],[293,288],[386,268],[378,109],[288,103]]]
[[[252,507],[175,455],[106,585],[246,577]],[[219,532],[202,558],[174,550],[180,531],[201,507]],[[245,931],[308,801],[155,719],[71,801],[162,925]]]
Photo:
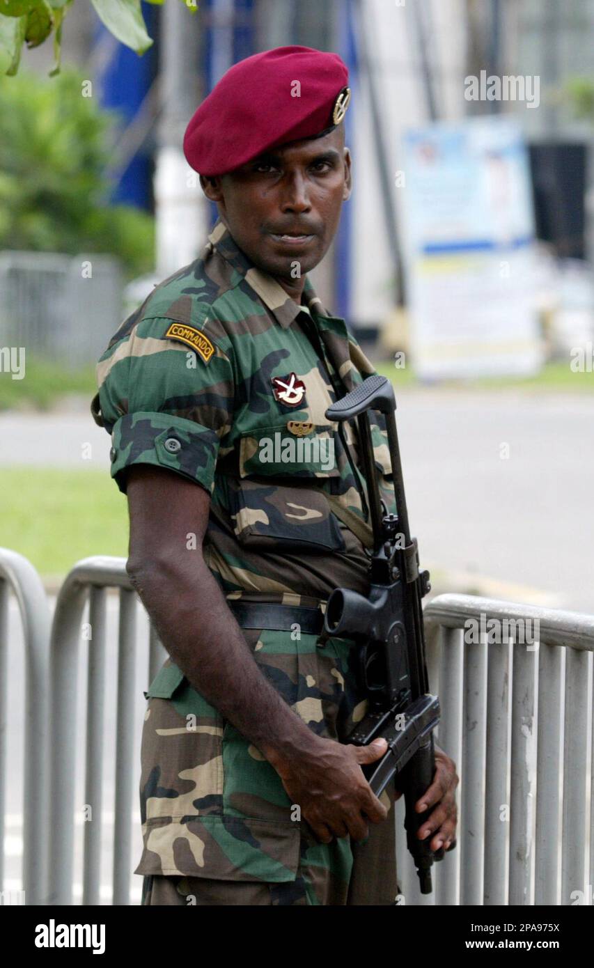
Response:
[[[127,570],[170,658],[140,781],[143,904],[394,904],[395,790],[361,765],[356,647],[320,641],[336,587],[368,590],[356,427],[325,410],[373,368],[307,273],[351,191],[340,57],[286,46],[232,67],[184,139],[219,219],[101,357],[92,410],[127,494]],[[373,423],[377,466],[389,469]],[[197,485],[197,486],[196,486]],[[382,491],[394,508],[383,476]],[[431,848],[455,836],[436,752]]]

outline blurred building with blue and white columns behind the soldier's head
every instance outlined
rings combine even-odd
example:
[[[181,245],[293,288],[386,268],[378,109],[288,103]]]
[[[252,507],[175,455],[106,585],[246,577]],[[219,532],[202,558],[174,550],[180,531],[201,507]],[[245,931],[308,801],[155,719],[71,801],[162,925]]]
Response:
[[[381,326],[402,300],[401,140],[405,129],[431,119],[515,116],[530,144],[540,237],[555,256],[591,255],[592,219],[584,200],[594,119],[575,120],[564,85],[570,76],[594,76],[594,0],[199,0],[196,15],[182,11],[175,56],[167,56],[163,32],[169,2],[143,3],[142,9],[155,38],[143,57],[117,44],[91,5],[81,3],[66,18],[63,57],[85,65],[104,104],[122,110],[114,197],[147,207],[155,203],[152,174],[160,145],[179,145],[193,108],[231,64],[286,44],[342,55],[353,88],[346,128],[355,187],[333,252],[314,282],[356,330]],[[193,76],[186,67],[180,74],[178,65],[169,84],[171,61],[178,58],[193,65]],[[45,71],[50,61],[46,45],[27,52],[24,66]],[[466,100],[464,78],[482,71],[538,77],[540,104]],[[200,204],[201,230],[192,228],[199,236],[196,252],[214,218],[212,206]]]

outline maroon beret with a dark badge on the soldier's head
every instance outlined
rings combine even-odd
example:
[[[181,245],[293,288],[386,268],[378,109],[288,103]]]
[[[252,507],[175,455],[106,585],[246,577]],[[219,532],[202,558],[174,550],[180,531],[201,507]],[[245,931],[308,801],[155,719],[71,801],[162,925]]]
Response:
[[[312,47],[276,47],[239,61],[193,114],[184,136],[188,164],[222,175],[269,148],[319,135],[342,121],[347,83],[339,55]]]

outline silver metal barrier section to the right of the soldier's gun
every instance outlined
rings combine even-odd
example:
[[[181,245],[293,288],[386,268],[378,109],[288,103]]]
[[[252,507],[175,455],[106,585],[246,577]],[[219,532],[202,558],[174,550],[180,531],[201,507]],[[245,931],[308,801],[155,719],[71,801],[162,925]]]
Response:
[[[400,835],[404,903],[591,904],[594,617],[444,594],[425,619],[437,741],[460,774],[459,835],[429,897]],[[512,644],[526,628],[536,634]]]

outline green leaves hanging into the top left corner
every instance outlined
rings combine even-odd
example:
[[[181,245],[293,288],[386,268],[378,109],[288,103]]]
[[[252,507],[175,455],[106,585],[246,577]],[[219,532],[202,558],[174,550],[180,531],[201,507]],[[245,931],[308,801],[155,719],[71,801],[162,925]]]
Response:
[[[153,4],[163,2],[148,0]],[[0,0],[0,76],[16,74],[23,44],[36,47],[52,33],[54,66],[49,74],[59,74],[62,24],[73,3],[74,0]],[[137,54],[143,54],[153,44],[146,32],[140,0],[91,0],[91,3],[107,30]],[[182,0],[182,3],[191,14],[197,13],[198,0]]]

